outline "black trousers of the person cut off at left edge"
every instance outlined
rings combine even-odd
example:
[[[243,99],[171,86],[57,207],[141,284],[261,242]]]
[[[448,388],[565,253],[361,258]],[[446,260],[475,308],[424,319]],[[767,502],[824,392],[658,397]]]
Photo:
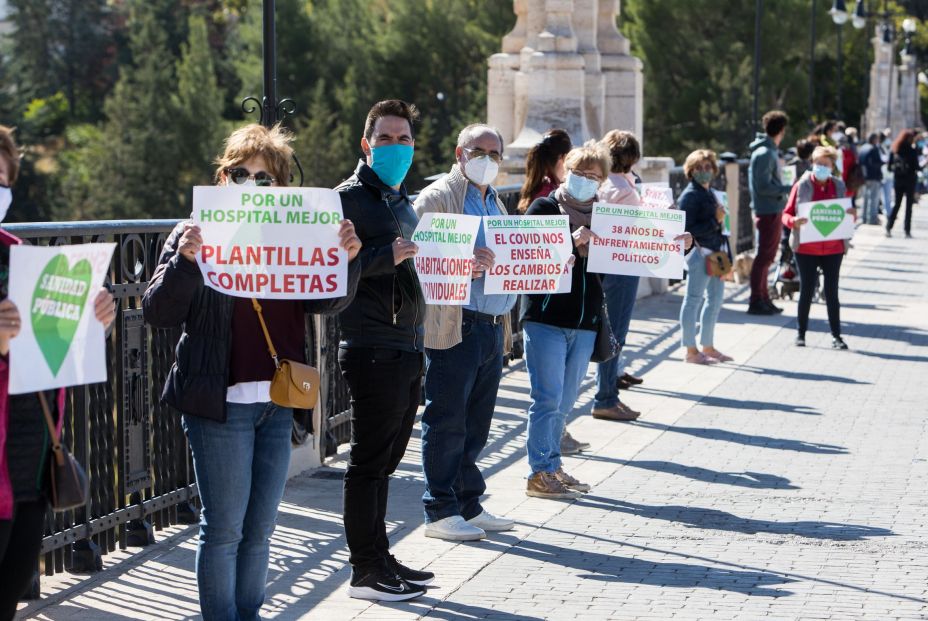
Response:
[[[47,509],[44,498],[18,502],[13,506],[13,519],[0,520],[0,621],[11,621],[32,584]]]

